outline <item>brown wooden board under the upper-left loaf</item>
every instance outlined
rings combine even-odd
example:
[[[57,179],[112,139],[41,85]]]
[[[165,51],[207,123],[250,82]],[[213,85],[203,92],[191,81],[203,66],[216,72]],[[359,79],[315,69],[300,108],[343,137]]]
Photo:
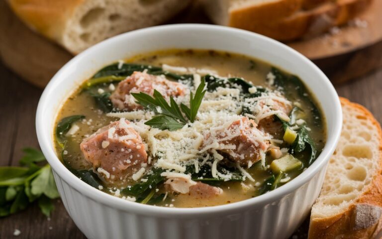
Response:
[[[0,60],[24,80],[45,87],[73,57],[61,46],[30,30],[0,1]]]

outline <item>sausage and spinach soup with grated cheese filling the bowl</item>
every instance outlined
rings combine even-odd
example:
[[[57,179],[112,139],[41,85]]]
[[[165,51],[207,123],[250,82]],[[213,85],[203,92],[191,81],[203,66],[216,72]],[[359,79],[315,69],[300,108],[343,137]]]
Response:
[[[63,104],[65,166],[105,193],[206,207],[282,187],[325,144],[318,104],[296,76],[206,50],[138,55],[100,69]]]

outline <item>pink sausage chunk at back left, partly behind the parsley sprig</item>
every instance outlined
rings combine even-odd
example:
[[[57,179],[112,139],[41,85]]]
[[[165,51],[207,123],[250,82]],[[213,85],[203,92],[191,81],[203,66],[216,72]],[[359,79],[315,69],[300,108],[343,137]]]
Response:
[[[153,96],[154,90],[157,90],[165,98],[183,96],[186,93],[186,87],[181,83],[169,81],[162,76],[136,71],[118,84],[111,94],[110,100],[113,106],[119,110],[142,109],[140,105],[135,103],[135,98],[130,93],[143,92]]]

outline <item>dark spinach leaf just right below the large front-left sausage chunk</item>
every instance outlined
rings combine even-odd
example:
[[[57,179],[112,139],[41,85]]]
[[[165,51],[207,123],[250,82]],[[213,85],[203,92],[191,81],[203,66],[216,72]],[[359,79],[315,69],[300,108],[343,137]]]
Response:
[[[164,181],[164,177],[161,176],[161,173],[164,172],[162,168],[153,167],[145,176],[144,179],[147,179],[146,182],[136,183],[132,186],[128,186],[121,191],[125,195],[131,195],[138,197],[146,191],[155,188],[158,184]]]

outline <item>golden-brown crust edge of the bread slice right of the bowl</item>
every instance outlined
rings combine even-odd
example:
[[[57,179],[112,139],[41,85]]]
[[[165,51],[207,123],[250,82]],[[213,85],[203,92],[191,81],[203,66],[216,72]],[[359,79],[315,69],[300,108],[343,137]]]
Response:
[[[342,106],[357,109],[359,117],[370,120],[380,135],[382,152],[382,130],[380,123],[363,106],[340,98]],[[370,239],[382,230],[382,153],[379,169],[366,190],[344,212],[330,218],[310,219],[309,239]]]

